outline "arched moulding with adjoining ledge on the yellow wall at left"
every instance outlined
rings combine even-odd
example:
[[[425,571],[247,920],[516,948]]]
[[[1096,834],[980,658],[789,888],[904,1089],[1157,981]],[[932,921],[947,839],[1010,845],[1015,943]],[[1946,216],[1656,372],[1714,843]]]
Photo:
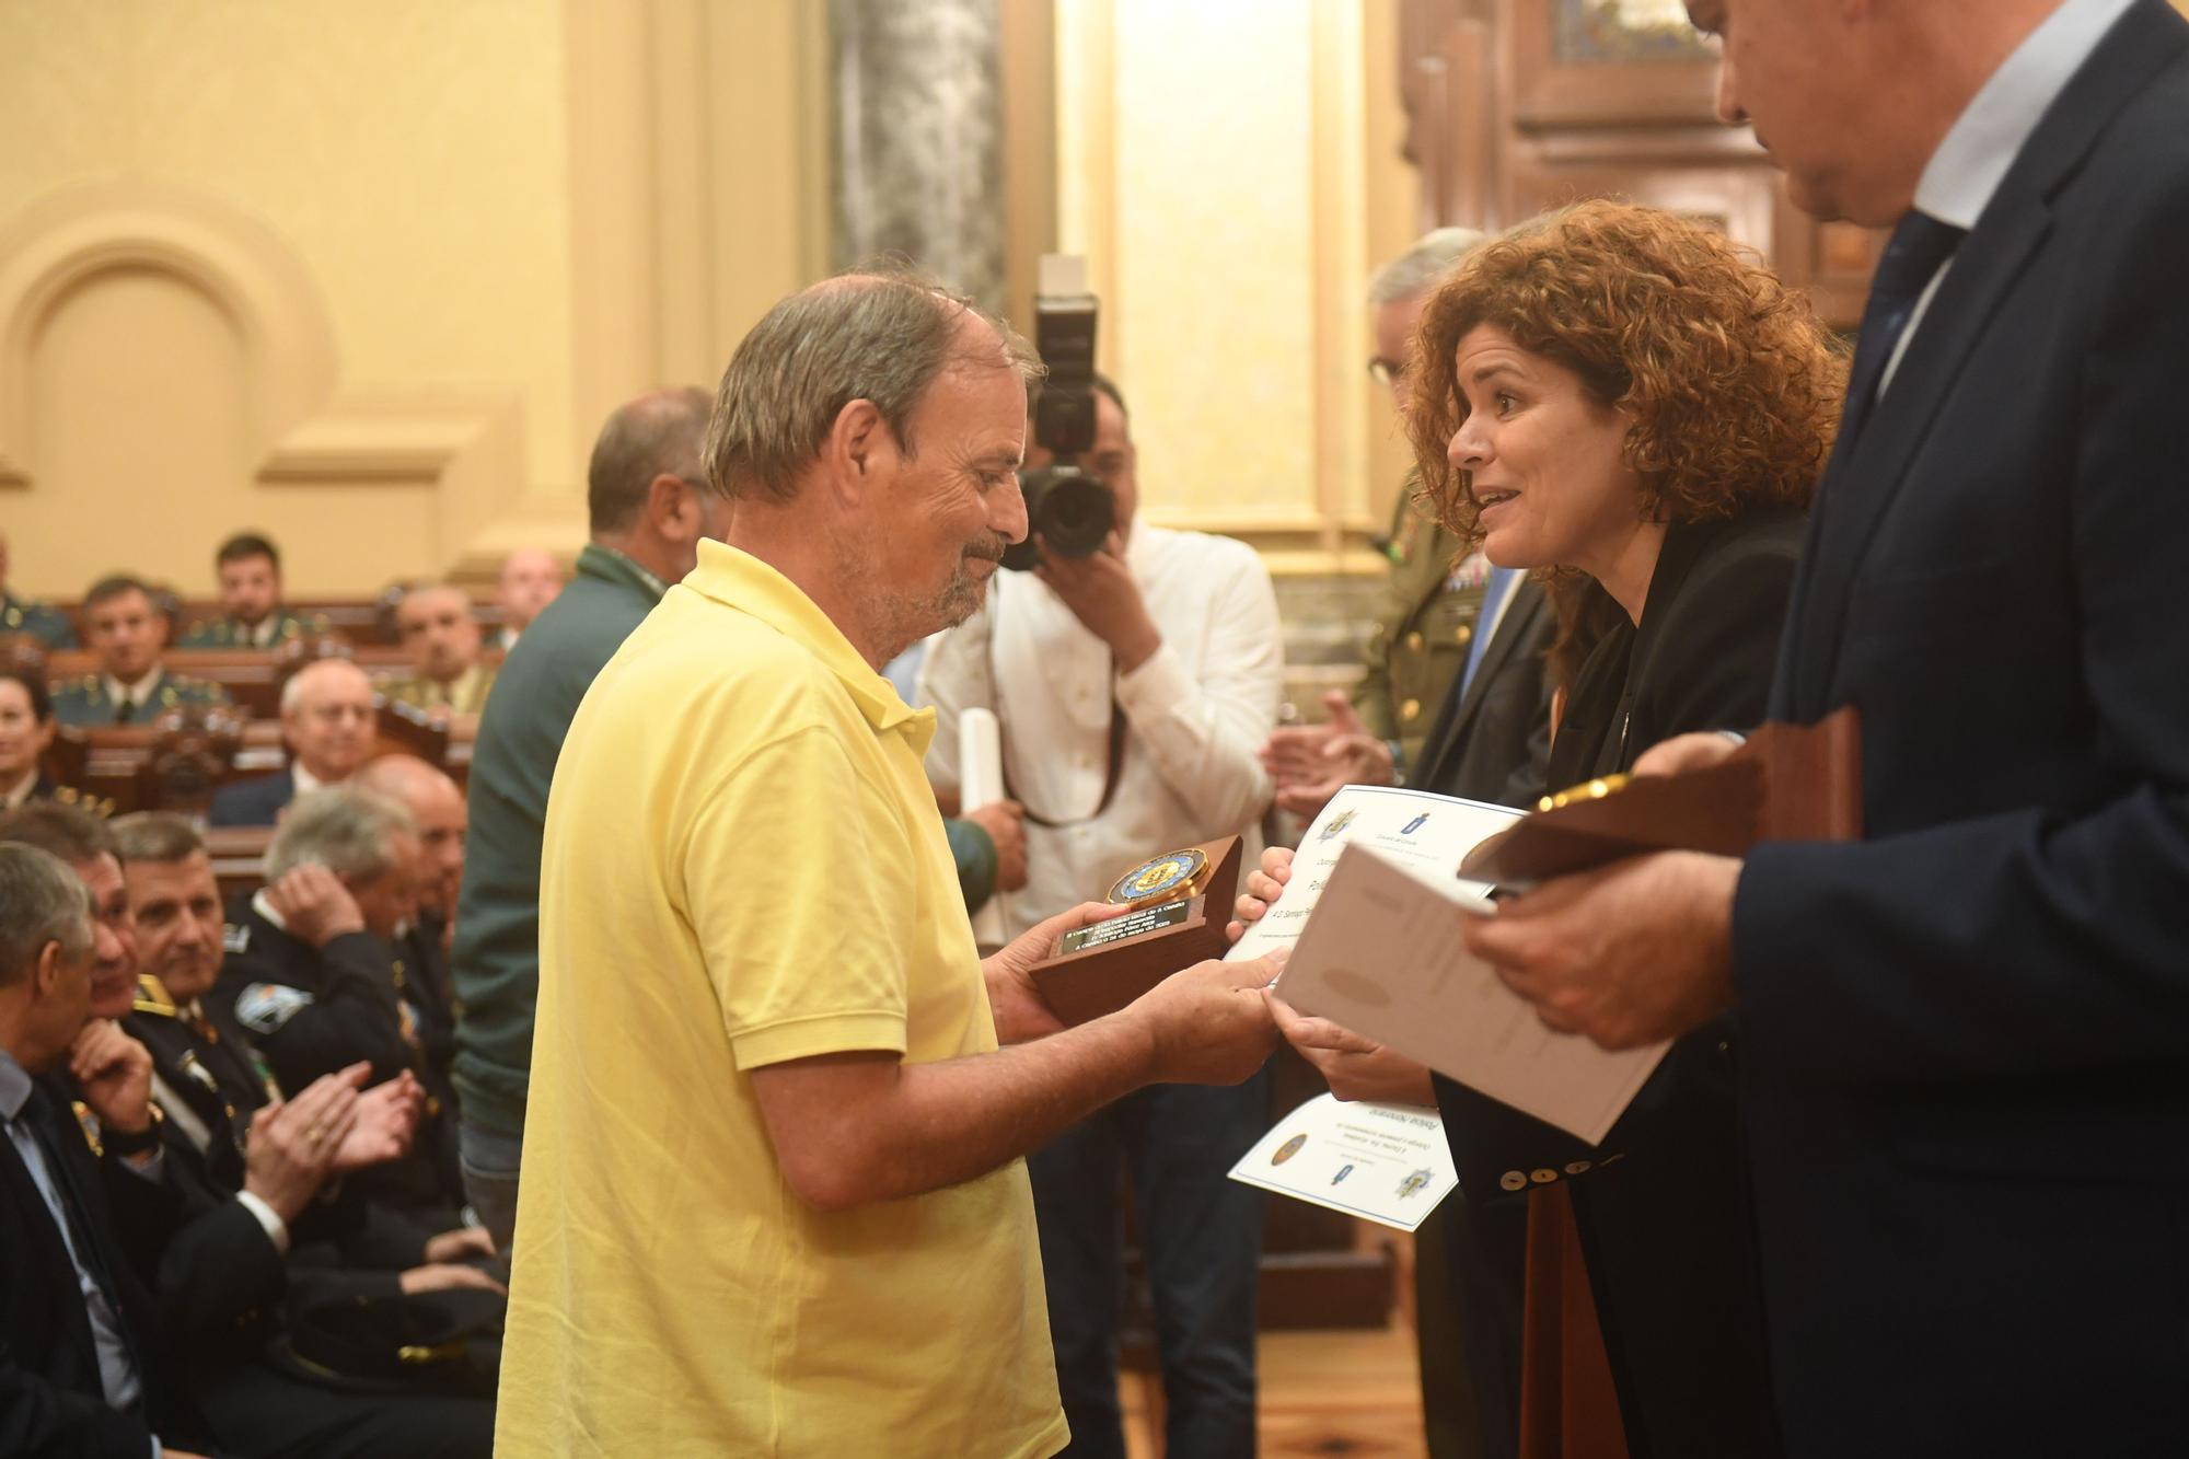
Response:
[[[125,280],[127,289],[107,289]],[[116,309],[127,307],[118,300],[131,291],[158,300],[160,287],[210,305],[234,335],[234,348],[212,353],[175,342],[182,370],[208,359],[234,370],[206,394],[232,401],[239,436],[230,451],[190,453],[179,480],[158,432],[83,418],[112,401],[83,388],[96,383],[96,351],[83,346],[83,318],[70,315],[101,298],[88,313],[120,331],[118,346],[136,344],[116,324]],[[153,337],[142,348],[160,351],[158,318],[179,313],[188,311],[144,309]],[[57,329],[77,348],[42,351]],[[39,379],[42,368],[59,368],[55,359],[74,370],[66,390]],[[114,383],[125,379],[142,399],[144,370],[116,359]],[[177,386],[177,397],[186,394]],[[147,425],[160,407],[147,405]],[[289,576],[317,591],[372,591],[396,574],[438,572],[523,495],[521,427],[514,388],[344,381],[309,269],[280,237],[219,197],[120,177],[42,197],[0,228],[0,493],[11,497],[13,576],[26,589],[74,596],[99,572],[129,565],[184,594],[201,591],[210,587],[212,541],[241,526],[296,541]],[[112,429],[116,440],[96,453],[53,449],[92,429]],[[88,458],[101,462],[96,493],[66,480]],[[116,502],[118,486],[105,473],[120,473],[129,491],[158,482],[184,493],[193,530],[175,530],[173,510],[160,510],[101,519],[88,532],[83,508]]]

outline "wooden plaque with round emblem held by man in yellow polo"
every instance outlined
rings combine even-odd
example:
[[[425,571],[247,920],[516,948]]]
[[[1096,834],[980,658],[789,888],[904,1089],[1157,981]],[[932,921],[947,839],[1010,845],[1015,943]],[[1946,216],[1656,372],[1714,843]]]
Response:
[[[1230,946],[1230,922],[1239,889],[1239,837],[1204,841],[1208,881],[1186,898],[1138,907],[1110,922],[1066,933],[1049,957],[1033,966],[1033,986],[1064,1023],[1086,1023],[1116,1012],[1171,973]]]

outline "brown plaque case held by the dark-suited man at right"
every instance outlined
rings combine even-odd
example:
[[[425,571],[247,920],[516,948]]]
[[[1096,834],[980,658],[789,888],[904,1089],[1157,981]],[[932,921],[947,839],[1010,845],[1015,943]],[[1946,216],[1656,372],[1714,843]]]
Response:
[[[1764,725],[1710,769],[1607,776],[1484,839],[1460,876],[1532,883],[1657,850],[1742,857],[1758,841],[1863,835],[1863,734],[1852,705],[1815,725]]]

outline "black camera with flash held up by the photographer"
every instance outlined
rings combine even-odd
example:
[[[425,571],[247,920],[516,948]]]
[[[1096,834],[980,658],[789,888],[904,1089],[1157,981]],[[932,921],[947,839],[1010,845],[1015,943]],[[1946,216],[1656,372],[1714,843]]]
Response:
[[[1042,565],[1035,535],[1057,556],[1092,556],[1116,526],[1110,489],[1079,464],[1094,449],[1094,296],[1086,287],[1084,259],[1042,256],[1033,348],[1049,366],[1033,401],[1033,445],[1053,460],[1018,473],[1018,491],[1027,497],[1027,541],[1003,552],[1003,565],[1016,572]]]

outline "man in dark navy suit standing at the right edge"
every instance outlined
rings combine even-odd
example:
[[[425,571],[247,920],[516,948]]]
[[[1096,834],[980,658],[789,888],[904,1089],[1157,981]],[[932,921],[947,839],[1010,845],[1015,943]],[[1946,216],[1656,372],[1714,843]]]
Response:
[[[1690,13],[1795,202],[1896,226],[1771,703],[1861,712],[1865,837],[1635,859],[1469,942],[1605,1045],[1736,1010],[1795,1459],[2178,1452],[2189,22]]]

